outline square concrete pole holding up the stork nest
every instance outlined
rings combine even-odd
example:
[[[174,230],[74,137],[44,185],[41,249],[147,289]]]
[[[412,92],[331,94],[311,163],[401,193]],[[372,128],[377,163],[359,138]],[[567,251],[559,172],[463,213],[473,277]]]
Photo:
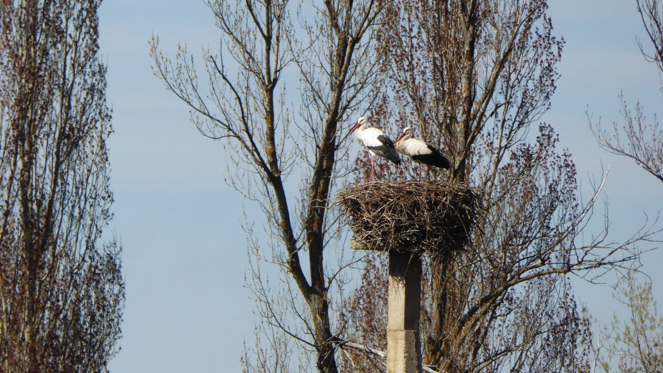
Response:
[[[422,371],[419,330],[421,272],[421,258],[417,254],[389,251],[387,373]]]

